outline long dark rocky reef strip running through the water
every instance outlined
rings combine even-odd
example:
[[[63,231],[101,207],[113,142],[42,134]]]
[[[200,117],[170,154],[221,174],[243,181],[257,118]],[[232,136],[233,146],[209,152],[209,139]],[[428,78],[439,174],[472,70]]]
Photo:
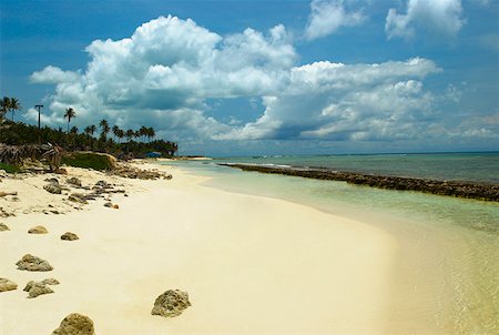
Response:
[[[285,174],[318,180],[344,181],[350,184],[368,185],[379,189],[419,191],[439,195],[477,199],[499,202],[499,185],[460,181],[436,181],[417,177],[374,175],[357,172],[340,172],[318,168],[283,168],[249,164],[220,164],[243,171],[271,174]]]

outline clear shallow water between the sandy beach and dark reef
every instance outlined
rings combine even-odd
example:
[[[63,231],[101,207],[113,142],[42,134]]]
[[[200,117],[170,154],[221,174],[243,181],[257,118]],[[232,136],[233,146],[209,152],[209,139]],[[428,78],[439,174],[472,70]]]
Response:
[[[387,334],[499,333],[499,204],[174,162],[206,186],[285,199],[396,237]]]

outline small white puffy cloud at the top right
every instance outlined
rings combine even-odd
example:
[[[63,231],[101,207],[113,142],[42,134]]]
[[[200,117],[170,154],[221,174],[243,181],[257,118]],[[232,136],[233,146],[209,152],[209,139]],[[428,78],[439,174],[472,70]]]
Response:
[[[388,39],[411,39],[416,30],[454,37],[465,24],[460,0],[408,0],[406,7],[406,13],[389,9],[385,23]]]

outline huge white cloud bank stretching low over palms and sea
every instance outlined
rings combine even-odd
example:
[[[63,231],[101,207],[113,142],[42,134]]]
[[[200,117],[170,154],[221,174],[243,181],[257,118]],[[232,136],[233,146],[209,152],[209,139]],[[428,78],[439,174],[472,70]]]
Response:
[[[393,141],[437,134],[435,105],[459,98],[454,87],[438,98],[425,90],[425,78],[441,71],[428,59],[298,65],[281,24],[220,35],[169,16],[85,50],[85,69],[50,65],[31,75],[55,85],[43,123],[63,125],[72,106],[81,128],[102,119],[121,128],[152,125],[157,136],[190,148],[234,140]],[[233,98],[262,106],[261,114],[242,122],[210,106]],[[35,121],[38,113],[26,118]]]

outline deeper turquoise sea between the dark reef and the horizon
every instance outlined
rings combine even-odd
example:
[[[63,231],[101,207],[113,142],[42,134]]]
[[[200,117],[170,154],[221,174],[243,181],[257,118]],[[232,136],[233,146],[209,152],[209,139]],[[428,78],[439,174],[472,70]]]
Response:
[[[499,183],[499,152],[257,156],[216,159],[214,162],[328,168],[384,175]]]

